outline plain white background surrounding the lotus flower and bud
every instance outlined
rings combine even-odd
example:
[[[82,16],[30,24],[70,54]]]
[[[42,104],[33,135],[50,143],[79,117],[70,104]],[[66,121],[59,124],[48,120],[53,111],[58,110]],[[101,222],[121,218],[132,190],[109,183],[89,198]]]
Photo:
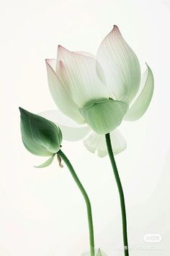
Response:
[[[1,2],[1,256],[79,256],[89,248],[84,200],[66,166],[33,167],[44,158],[22,145],[18,106],[34,113],[55,108],[45,59],[56,56],[58,44],[95,54],[114,24],[142,70],[147,61],[155,78],[145,116],[121,125],[128,148],[116,156],[130,256],[169,255],[169,22],[169,0]],[[122,256],[120,203],[108,157],[97,158],[82,142],[63,142],[63,150],[91,198],[96,246]],[[145,234],[161,234],[162,241],[147,244]]]

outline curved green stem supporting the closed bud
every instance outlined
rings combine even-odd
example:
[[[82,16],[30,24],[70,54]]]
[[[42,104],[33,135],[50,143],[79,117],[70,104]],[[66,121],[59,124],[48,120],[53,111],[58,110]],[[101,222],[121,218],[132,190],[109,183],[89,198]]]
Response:
[[[86,209],[87,209],[87,216],[88,216],[88,222],[89,222],[89,242],[90,242],[90,252],[91,256],[94,256],[94,229],[93,229],[93,219],[92,219],[92,213],[91,213],[91,203],[89,200],[89,197],[86,193],[86,190],[84,189],[83,185],[81,184],[79,177],[76,175],[76,172],[73,169],[73,166],[71,165],[70,161],[66,157],[66,155],[59,150],[57,153],[61,159],[66,163],[66,166],[68,167],[69,171],[71,172],[71,175],[76,182],[77,186],[79,187],[81,194],[84,197],[84,200],[86,202]]]

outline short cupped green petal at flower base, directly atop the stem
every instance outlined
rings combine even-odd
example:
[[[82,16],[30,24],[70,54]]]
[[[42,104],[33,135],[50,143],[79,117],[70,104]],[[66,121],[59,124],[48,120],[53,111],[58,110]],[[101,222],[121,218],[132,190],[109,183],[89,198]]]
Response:
[[[126,103],[109,99],[79,110],[94,132],[105,135],[120,125],[127,109]]]

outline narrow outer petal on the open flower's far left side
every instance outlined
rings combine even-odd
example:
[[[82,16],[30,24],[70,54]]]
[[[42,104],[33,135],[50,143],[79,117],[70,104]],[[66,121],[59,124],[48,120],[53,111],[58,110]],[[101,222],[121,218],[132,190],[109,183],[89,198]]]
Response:
[[[62,85],[61,80],[59,80],[57,74],[54,71],[56,60],[48,59],[46,60],[46,67],[48,72],[48,85],[50,88],[50,93],[55,101],[58,108],[66,114],[66,116],[71,117],[71,119],[77,121],[78,123],[84,123],[84,119],[79,113],[79,108],[76,103],[69,97],[66,89]]]

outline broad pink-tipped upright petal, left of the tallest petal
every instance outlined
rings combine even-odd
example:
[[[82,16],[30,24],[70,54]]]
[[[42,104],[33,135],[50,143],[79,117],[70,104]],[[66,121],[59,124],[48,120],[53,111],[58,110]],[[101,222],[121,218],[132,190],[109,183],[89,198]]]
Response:
[[[91,100],[108,98],[107,88],[97,76],[96,60],[92,56],[71,52],[58,46],[56,72],[79,107],[84,107]]]

